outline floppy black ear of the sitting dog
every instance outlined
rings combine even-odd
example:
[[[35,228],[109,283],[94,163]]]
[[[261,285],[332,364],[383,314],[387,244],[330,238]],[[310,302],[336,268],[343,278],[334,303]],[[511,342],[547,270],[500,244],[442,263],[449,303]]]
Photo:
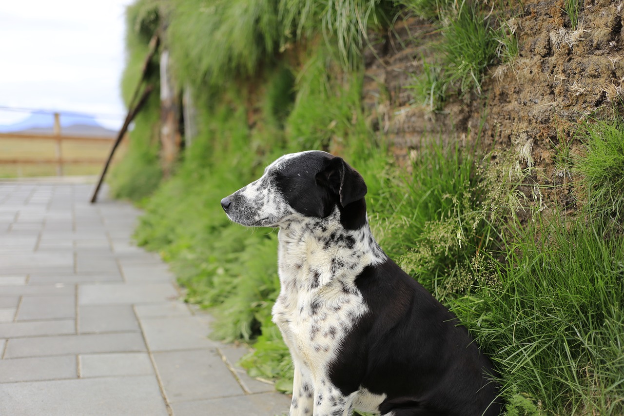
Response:
[[[364,178],[341,157],[328,159],[323,170],[316,174],[316,182],[337,194],[343,207],[362,199],[367,191]]]

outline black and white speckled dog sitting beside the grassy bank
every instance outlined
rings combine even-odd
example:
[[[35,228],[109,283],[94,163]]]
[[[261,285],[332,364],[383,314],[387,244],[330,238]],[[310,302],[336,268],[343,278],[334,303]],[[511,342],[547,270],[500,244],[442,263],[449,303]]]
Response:
[[[366,184],[340,157],[280,157],[221,201],[279,227],[273,307],[295,364],[290,416],[498,415],[492,364],[457,318],[374,240]]]

